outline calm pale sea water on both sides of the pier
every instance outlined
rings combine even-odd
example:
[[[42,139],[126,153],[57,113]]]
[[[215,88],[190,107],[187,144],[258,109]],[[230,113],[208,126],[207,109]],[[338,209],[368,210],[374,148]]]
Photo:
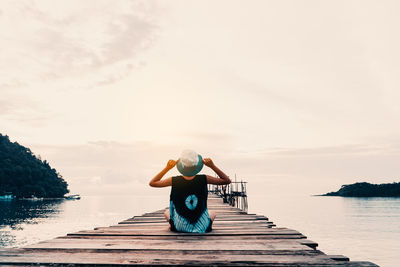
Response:
[[[160,196],[84,196],[77,201],[0,201],[0,246],[21,247],[158,210]],[[400,198],[252,195],[249,212],[300,231],[327,254],[400,266]]]

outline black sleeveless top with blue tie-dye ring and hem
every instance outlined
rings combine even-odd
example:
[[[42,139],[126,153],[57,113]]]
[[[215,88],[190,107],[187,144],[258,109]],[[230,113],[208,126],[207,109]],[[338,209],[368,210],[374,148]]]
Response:
[[[172,177],[170,194],[171,230],[180,232],[208,232],[211,220],[207,209],[207,176],[196,175],[191,180]]]

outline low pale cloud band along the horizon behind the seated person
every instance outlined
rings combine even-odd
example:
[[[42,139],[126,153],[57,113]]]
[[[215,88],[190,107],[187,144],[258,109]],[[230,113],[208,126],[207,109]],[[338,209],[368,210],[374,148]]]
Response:
[[[212,141],[210,140],[210,145]],[[216,143],[219,140],[215,141]],[[31,145],[82,194],[138,194],[152,191],[148,181],[159,173],[181,147],[150,142],[96,141],[82,145]],[[356,181],[392,182],[400,160],[400,143],[349,144],[315,148],[271,148],[247,153],[226,148],[208,150],[217,166],[234,179],[249,182],[254,193],[334,190]],[[204,167],[202,173],[214,175]],[[176,169],[166,176],[179,175]]]

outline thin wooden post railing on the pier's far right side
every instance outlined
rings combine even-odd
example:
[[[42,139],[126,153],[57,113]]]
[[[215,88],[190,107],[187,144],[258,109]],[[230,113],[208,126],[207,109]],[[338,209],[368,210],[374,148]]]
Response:
[[[247,182],[232,182],[228,185],[208,185],[208,192],[222,197],[224,203],[247,212]]]

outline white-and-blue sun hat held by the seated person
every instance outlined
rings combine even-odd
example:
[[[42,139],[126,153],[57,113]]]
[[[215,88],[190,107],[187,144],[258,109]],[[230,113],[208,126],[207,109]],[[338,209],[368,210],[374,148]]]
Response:
[[[195,151],[185,149],[182,151],[176,168],[184,176],[194,176],[203,168],[203,158]]]

